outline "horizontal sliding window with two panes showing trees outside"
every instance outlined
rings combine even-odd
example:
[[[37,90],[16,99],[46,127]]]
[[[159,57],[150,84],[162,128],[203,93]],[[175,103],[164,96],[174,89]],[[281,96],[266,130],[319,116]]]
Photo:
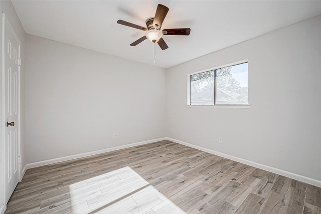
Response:
[[[188,75],[188,105],[248,104],[248,62]]]

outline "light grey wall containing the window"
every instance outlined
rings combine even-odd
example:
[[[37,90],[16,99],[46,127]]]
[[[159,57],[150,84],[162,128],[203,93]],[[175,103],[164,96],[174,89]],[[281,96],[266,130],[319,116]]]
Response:
[[[321,180],[320,50],[318,16],[168,69],[168,137]],[[250,109],[186,107],[187,74],[246,59]]]

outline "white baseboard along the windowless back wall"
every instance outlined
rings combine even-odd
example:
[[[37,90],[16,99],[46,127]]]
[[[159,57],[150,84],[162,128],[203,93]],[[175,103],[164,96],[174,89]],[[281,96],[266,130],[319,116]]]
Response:
[[[158,139],[153,139],[153,140],[146,140],[146,141],[142,141],[142,142],[138,142],[138,143],[131,143],[131,144],[127,144],[127,145],[116,146],[116,147],[112,147],[112,148],[106,148],[106,149],[101,149],[101,150],[96,150],[96,151],[91,151],[91,152],[86,152],[86,153],[81,153],[81,154],[75,154],[75,155],[70,155],[70,156],[66,156],[66,157],[59,157],[59,158],[50,159],[50,160],[43,160],[43,161],[39,161],[39,162],[35,162],[35,163],[28,163],[26,165],[26,167],[28,169],[30,169],[30,168],[35,168],[38,166],[45,166],[45,165],[59,163],[59,162],[67,161],[67,160],[88,157],[91,155],[101,154],[101,153],[115,151],[115,150],[119,150],[119,149],[125,149],[125,148],[129,148],[129,147],[133,147],[133,146],[154,143],[154,142],[162,141],[162,140],[166,140],[166,138],[163,137],[163,138],[158,138]]]

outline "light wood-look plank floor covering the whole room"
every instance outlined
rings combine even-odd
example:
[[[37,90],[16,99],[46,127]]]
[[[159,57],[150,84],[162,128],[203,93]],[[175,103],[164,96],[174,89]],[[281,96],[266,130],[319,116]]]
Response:
[[[28,169],[6,213],[321,213],[321,188],[161,141]]]

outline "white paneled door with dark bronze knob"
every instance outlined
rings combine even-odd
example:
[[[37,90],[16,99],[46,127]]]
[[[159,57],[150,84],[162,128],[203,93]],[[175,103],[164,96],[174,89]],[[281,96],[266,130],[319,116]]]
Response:
[[[6,203],[20,181],[20,42],[9,22],[5,22],[4,72],[5,112],[7,116],[5,142]]]

